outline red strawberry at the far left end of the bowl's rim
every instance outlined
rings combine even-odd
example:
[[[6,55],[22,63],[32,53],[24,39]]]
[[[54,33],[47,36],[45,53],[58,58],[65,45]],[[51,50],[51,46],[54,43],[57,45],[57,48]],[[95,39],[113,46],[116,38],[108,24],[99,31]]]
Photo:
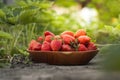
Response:
[[[41,44],[35,40],[32,40],[29,44],[29,50],[35,50],[40,51],[41,50]]]

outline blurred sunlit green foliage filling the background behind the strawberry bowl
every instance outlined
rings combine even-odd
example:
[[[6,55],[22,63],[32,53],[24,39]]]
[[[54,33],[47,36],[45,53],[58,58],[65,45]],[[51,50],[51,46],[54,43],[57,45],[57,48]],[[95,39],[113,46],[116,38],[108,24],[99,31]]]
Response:
[[[120,44],[120,0],[11,1],[0,0],[0,61],[27,55],[28,43],[46,30],[82,28],[98,45]]]

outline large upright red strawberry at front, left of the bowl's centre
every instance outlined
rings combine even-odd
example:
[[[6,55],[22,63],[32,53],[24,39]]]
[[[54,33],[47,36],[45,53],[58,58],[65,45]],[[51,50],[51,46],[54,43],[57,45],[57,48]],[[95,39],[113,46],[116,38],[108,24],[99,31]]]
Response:
[[[62,47],[62,40],[58,39],[52,40],[50,45],[53,51],[59,51]]]

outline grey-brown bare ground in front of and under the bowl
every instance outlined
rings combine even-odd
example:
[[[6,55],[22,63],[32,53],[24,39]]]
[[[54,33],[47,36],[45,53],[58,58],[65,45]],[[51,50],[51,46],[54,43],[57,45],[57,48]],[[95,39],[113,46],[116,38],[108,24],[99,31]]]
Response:
[[[103,56],[103,55],[102,55]],[[0,69],[0,80],[120,80],[99,65],[102,56],[98,54],[88,65],[57,66],[32,64],[31,66]]]

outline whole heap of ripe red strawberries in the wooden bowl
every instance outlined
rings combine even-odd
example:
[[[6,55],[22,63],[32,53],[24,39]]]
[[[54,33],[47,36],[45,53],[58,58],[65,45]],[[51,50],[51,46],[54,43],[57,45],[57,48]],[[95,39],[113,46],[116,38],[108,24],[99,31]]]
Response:
[[[60,35],[45,31],[44,36],[30,42],[28,49],[32,51],[87,51],[96,50],[97,47],[86,35],[86,31],[80,29],[75,34],[72,31],[64,31]]]

